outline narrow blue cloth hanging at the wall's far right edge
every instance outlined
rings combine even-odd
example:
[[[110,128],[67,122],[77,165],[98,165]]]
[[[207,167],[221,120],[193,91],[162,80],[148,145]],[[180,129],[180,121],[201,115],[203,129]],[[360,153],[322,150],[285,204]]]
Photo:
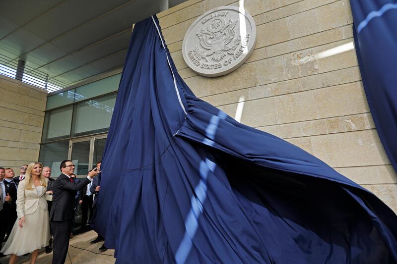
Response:
[[[397,171],[397,1],[351,0],[353,33],[368,105]]]

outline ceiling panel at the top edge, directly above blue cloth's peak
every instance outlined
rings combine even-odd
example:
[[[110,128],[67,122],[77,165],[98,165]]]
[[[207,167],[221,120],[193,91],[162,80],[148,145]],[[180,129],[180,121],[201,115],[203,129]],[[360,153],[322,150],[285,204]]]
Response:
[[[139,0],[132,1],[122,8],[116,10],[116,12],[131,26],[152,14],[156,14],[160,11],[160,3],[158,0]]]

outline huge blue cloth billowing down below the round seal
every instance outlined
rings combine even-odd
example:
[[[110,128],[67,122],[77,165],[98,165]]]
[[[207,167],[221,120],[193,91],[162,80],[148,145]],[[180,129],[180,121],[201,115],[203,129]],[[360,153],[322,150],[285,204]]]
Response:
[[[117,263],[396,263],[396,214],[302,149],[196,98],[135,24],[92,226]]]

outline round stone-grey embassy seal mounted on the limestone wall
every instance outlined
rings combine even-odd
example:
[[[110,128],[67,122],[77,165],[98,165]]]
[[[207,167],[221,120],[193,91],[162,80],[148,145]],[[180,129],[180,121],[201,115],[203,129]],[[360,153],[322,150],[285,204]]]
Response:
[[[235,6],[220,6],[202,14],[189,27],[182,54],[200,75],[216,77],[240,67],[254,51],[257,31],[252,16]]]

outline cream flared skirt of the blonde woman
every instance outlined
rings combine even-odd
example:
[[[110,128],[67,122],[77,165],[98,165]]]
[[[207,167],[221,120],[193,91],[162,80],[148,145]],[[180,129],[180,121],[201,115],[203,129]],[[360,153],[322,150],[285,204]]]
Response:
[[[4,255],[15,254],[22,256],[48,246],[49,241],[50,222],[48,211],[37,208],[34,213],[25,215],[25,223],[23,223],[22,228],[19,227],[18,220],[15,221],[1,253],[4,253]]]

